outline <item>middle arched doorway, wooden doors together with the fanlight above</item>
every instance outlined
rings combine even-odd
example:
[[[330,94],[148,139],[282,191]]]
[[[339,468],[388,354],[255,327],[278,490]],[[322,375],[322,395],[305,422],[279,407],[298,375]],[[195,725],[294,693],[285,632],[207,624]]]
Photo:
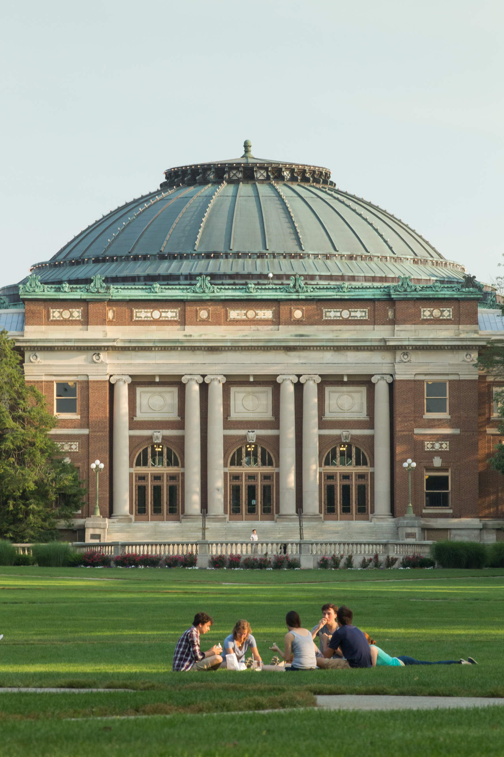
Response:
[[[230,520],[274,520],[274,459],[266,447],[252,442],[237,447],[227,475]]]

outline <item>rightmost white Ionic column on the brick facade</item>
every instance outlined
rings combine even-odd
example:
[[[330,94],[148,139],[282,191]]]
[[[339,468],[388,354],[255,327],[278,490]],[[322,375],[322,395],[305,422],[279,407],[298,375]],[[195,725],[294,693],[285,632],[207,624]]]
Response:
[[[390,403],[388,385],[391,375],[378,374],[375,385],[375,516],[390,518]]]

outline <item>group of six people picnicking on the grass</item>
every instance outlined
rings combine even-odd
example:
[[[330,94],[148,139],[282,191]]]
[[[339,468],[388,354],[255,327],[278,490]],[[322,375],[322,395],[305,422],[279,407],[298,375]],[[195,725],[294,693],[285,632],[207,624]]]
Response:
[[[197,612],[193,625],[184,631],[175,646],[173,656],[174,671],[202,671],[229,668],[233,656],[233,669],[236,662],[240,665],[247,653],[252,653],[252,662],[261,670],[299,671],[341,670],[343,668],[374,668],[376,665],[477,665],[472,657],[458,660],[441,660],[425,662],[407,655],[391,657],[369,637],[365,631],[352,625],[354,613],[342,605],[331,603],[322,606],[322,618],[311,629],[301,628],[301,619],[294,610],[286,615],[287,633],[283,640],[283,650],[274,643],[270,647],[278,656],[271,665],[264,665],[258,652],[257,643],[252,636],[252,629],[246,620],[239,620],[233,631],[224,639],[224,648],[215,644],[206,652],[199,646],[201,635],[208,633],[213,619],[206,612]],[[315,643],[318,638],[319,646]],[[228,659],[227,659],[228,658]],[[243,665],[241,666],[243,667]]]

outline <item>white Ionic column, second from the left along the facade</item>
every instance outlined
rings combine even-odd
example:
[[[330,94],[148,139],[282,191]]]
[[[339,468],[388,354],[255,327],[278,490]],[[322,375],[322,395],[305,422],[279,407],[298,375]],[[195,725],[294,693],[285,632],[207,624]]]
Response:
[[[185,388],[184,515],[201,513],[201,433],[199,428],[199,385],[203,376],[182,376]]]

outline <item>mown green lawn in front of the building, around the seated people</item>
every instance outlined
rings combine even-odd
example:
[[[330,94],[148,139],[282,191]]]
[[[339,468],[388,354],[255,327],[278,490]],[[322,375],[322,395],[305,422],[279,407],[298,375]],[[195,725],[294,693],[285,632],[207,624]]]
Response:
[[[119,750],[121,757],[133,757],[141,753],[227,755],[237,749],[252,757],[277,755],[286,748],[292,755],[318,755],[334,744],[335,727],[338,749],[346,745],[354,754],[363,750],[376,755],[397,754],[397,750],[407,755],[500,754],[503,709],[401,715],[305,709],[220,718],[202,713],[311,708],[317,693],[504,696],[503,600],[504,570],[1,567],[0,633],[5,638],[0,642],[0,686],[135,691],[1,693],[0,757],[84,757],[91,749],[93,757],[97,752],[115,755]],[[268,647],[274,641],[280,643],[286,631],[286,612],[296,609],[301,622],[311,628],[325,602],[350,606],[355,624],[391,655],[409,654],[417,659],[471,655],[480,664],[314,671],[295,676],[264,671],[171,672],[175,642],[199,610],[215,620],[203,639],[204,649],[222,643],[234,622],[247,618],[259,652],[269,662]],[[118,715],[152,717],[96,719]],[[432,732],[435,718],[439,730]],[[478,741],[483,732],[486,751]]]

